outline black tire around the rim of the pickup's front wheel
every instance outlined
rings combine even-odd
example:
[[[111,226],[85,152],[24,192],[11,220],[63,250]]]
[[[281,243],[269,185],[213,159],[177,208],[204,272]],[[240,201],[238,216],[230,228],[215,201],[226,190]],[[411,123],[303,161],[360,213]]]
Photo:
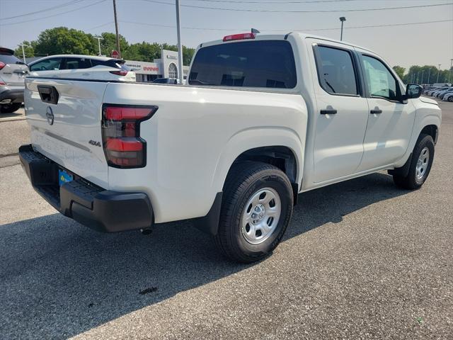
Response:
[[[429,159],[425,164],[424,171],[422,174],[423,176],[418,177],[417,162],[422,152],[425,152],[424,151],[425,148],[427,148],[429,151]],[[426,179],[428,179],[428,175],[430,174],[433,159],[434,159],[434,141],[432,140],[432,137],[430,135],[421,134],[418,137],[415,147],[413,148],[411,165],[409,166],[408,176],[403,177],[394,175],[394,183],[396,184],[396,186],[408,190],[418,189],[421,186],[423,186],[423,183],[425,183]]]

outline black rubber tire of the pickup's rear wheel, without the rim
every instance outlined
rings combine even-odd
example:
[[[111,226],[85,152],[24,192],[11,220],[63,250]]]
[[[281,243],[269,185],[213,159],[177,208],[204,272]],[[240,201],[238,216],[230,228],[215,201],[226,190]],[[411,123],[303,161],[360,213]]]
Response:
[[[248,200],[263,188],[272,188],[278,194],[280,219],[267,239],[260,244],[251,244],[243,235],[241,217]],[[268,256],[285,234],[292,216],[293,201],[291,183],[277,167],[259,162],[234,164],[224,184],[219,230],[214,237],[217,247],[227,258],[241,263],[259,261]]]

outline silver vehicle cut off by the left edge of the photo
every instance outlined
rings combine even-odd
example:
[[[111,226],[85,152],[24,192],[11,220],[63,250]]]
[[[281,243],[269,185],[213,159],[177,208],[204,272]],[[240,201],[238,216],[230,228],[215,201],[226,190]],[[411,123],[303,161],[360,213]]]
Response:
[[[28,67],[14,51],[0,47],[0,113],[12,113],[21,107]]]

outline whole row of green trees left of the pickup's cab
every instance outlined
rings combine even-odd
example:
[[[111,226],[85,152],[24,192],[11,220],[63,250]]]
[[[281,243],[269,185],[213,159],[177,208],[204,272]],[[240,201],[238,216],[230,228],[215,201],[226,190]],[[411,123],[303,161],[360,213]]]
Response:
[[[116,50],[116,36],[114,33],[101,33],[101,54],[110,56]],[[46,55],[98,55],[98,39],[95,35],[85,33],[74,28],[56,27],[43,30],[37,40],[23,41],[25,57],[45,57]],[[161,50],[177,51],[176,45],[158,42],[137,42],[131,44],[120,35],[121,58],[141,62],[153,62],[161,57]],[[194,48],[183,46],[183,64],[190,64]],[[22,56],[22,47],[18,47],[15,55]]]

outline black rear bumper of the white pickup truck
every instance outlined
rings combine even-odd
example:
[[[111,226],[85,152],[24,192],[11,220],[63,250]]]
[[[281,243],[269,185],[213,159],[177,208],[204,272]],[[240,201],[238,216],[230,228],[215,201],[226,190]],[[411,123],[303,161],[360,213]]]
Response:
[[[35,152],[19,148],[19,158],[33,188],[67,217],[99,232],[149,228],[154,223],[151,202],[145,193],[120,193],[75,178],[58,184],[59,165]]]

